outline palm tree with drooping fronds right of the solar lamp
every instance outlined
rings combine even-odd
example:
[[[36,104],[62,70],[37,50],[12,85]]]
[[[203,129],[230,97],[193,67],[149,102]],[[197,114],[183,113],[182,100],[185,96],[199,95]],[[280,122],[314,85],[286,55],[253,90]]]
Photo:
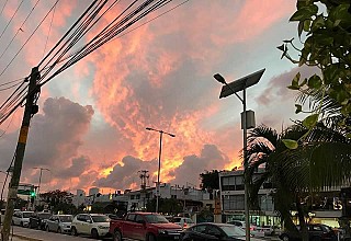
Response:
[[[303,240],[308,240],[308,233],[305,225],[306,211],[301,199],[308,193],[344,184],[347,176],[351,174],[351,141],[346,137],[344,128],[335,125],[338,122],[328,120],[327,125],[320,122],[313,129],[296,123],[280,135],[261,125],[252,129],[248,137],[247,177],[251,180],[251,205],[258,206],[260,186],[268,180],[272,182],[275,187],[275,208],[286,228],[292,231],[297,231],[290,213],[293,204],[295,205]],[[297,149],[292,150],[285,147],[285,139],[303,141]],[[264,167],[265,172],[252,180],[259,167]]]

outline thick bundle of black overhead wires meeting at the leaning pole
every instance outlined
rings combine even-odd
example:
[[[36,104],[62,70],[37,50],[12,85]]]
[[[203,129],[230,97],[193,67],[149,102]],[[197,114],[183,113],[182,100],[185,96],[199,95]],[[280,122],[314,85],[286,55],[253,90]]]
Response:
[[[94,0],[37,65],[41,72],[41,77],[37,80],[38,88],[104,44],[137,30],[138,27],[165,15],[190,0],[184,0],[178,5],[126,32],[132,25],[172,1],[174,0],[145,0],[141,1],[143,3],[137,4],[140,0],[134,0],[128,3],[117,16],[110,21],[102,31],[88,41],[87,44],[71,51],[77,43],[79,43],[79,41],[84,37],[87,33],[89,33],[90,30],[109,11],[111,11],[113,7],[115,7],[116,3],[120,2],[120,0],[114,0],[111,4],[106,5],[107,0]],[[26,85],[27,84],[24,84],[23,89],[18,88],[16,91],[5,101],[5,105],[0,106],[0,125],[13,113],[15,108],[25,102],[26,95],[31,94],[27,93]]]

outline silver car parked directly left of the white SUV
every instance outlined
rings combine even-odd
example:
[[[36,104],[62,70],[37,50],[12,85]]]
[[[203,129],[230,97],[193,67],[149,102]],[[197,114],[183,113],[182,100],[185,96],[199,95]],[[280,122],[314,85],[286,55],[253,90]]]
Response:
[[[46,220],[45,230],[50,232],[69,233],[73,216],[71,215],[53,215]]]

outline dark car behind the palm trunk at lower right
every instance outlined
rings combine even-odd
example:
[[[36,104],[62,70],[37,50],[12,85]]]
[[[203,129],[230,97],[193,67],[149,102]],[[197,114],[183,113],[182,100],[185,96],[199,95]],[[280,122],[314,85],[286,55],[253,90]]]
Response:
[[[299,226],[297,226],[299,230]],[[335,231],[326,225],[307,225],[308,238],[310,241],[337,241],[338,237]],[[299,241],[302,238],[299,233],[285,231],[279,236],[283,241]]]

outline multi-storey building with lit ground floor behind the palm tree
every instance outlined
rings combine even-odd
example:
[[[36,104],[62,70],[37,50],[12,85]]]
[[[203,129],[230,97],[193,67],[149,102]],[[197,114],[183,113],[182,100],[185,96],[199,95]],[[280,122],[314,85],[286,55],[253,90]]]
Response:
[[[264,172],[264,169],[258,169],[253,179]],[[324,223],[330,227],[340,227],[339,220],[342,217],[351,218],[351,205],[348,214],[348,204],[351,203],[350,183],[342,186],[325,187],[322,191],[306,194],[304,205],[309,209],[308,222]],[[220,191],[220,213],[222,221],[245,220],[245,185],[244,170],[224,171],[219,173]],[[342,191],[347,190],[344,198]],[[250,210],[250,222],[258,226],[270,225],[281,226],[281,220],[274,209],[272,183],[263,183],[259,190],[260,210]],[[347,202],[348,200],[348,202]],[[292,210],[295,217],[296,211]],[[298,222],[297,217],[294,218]]]

